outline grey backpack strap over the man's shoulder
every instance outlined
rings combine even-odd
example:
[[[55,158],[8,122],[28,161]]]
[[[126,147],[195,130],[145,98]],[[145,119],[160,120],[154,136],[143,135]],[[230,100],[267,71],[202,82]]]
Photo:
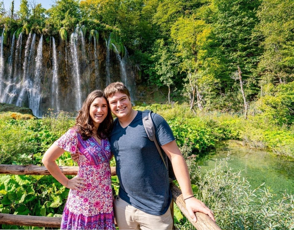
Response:
[[[166,166],[166,163],[165,163],[165,160],[163,158],[161,149],[160,149],[160,147],[158,145],[158,142],[157,142],[157,139],[156,139],[156,136],[155,136],[155,127],[154,127],[154,124],[153,124],[153,121],[152,121],[151,113],[152,113],[151,110],[142,111],[143,126],[145,128],[145,131],[147,133],[147,136],[148,136],[149,140],[154,141],[154,144],[156,145],[158,153],[161,156],[161,159],[162,159],[164,165]],[[166,166],[166,169],[168,170],[167,166]]]

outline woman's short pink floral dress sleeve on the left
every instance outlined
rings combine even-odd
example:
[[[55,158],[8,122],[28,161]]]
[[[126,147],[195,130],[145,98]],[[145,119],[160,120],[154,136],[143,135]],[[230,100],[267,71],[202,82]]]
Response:
[[[78,152],[78,136],[76,131],[69,129],[54,144],[66,152],[76,154]]]

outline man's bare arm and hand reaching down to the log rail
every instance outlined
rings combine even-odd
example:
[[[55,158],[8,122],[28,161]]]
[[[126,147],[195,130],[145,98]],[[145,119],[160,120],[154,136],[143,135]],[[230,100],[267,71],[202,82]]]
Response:
[[[196,222],[197,218],[194,212],[203,212],[207,214],[213,221],[215,221],[211,210],[206,207],[202,201],[194,197],[188,166],[180,149],[178,148],[176,141],[171,141],[170,143],[161,146],[161,148],[171,160],[173,171],[181,187],[183,198],[186,199],[191,197],[185,200],[186,208],[191,218]]]

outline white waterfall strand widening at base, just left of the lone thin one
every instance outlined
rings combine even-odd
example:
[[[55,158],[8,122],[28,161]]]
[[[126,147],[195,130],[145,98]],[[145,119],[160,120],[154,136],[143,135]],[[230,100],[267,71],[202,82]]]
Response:
[[[35,116],[40,116],[39,107],[41,99],[41,69],[42,69],[42,50],[43,50],[43,34],[39,40],[37,48],[37,56],[35,58],[36,68],[34,72],[33,87],[29,91],[29,107],[32,109]]]

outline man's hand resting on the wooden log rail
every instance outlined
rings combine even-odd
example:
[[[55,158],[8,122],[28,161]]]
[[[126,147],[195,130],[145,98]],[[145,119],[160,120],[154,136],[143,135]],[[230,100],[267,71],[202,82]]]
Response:
[[[190,217],[195,222],[197,221],[197,217],[194,212],[203,212],[207,214],[214,222],[216,222],[213,212],[211,212],[211,210],[202,201],[196,199],[195,197],[191,197],[189,199],[186,199],[185,203]]]

